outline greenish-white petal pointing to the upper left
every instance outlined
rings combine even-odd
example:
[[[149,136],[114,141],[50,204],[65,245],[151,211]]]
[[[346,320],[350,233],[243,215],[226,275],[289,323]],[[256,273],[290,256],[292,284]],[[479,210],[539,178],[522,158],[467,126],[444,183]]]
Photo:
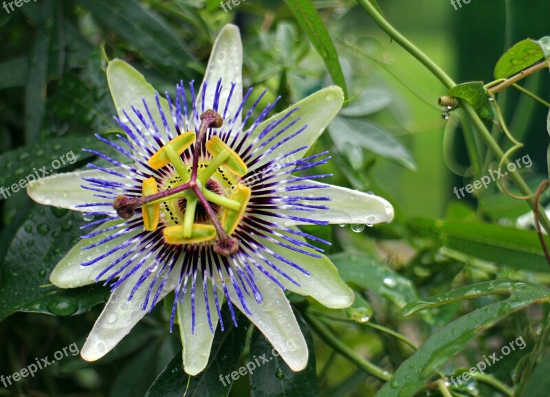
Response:
[[[135,106],[135,108],[144,115],[147,122],[149,122],[142,101],[145,99],[147,107],[149,111],[151,111],[153,120],[155,120],[155,124],[157,128],[159,128],[164,141],[168,141],[168,135],[166,135],[164,131],[164,124],[162,123],[162,118],[160,117],[157,102],[155,100],[155,89],[145,80],[139,71],[124,62],[124,60],[113,59],[109,62],[109,65],[107,65],[107,82],[109,84],[109,91],[111,91],[111,96],[113,97],[113,102],[115,103],[118,118],[122,122],[126,121],[126,117],[122,111],[126,111],[132,120],[137,121],[137,116],[133,113],[131,106]],[[168,127],[175,133],[174,121],[170,113],[168,102],[166,99],[162,98],[162,95],[159,94],[159,97],[162,110],[166,117],[166,122],[168,122]]]

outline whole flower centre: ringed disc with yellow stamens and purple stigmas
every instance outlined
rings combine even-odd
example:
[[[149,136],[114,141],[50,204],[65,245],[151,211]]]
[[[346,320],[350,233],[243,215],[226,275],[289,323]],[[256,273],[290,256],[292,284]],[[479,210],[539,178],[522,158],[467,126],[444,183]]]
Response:
[[[192,132],[181,134],[151,156],[151,168],[159,170],[171,164],[175,172],[170,170],[170,176],[160,183],[153,177],[146,179],[138,199],[118,196],[113,207],[119,216],[129,219],[134,209],[141,207],[144,227],[153,231],[159,225],[162,207],[162,232],[167,244],[215,240],[215,252],[222,256],[235,253],[239,242],[231,235],[243,217],[251,191],[240,183],[248,168],[239,155],[217,136],[204,142],[208,128],[219,128],[222,122],[219,114],[206,111],[201,115],[196,137]],[[195,150],[189,167],[181,155],[193,143]],[[202,147],[209,159],[199,164]]]

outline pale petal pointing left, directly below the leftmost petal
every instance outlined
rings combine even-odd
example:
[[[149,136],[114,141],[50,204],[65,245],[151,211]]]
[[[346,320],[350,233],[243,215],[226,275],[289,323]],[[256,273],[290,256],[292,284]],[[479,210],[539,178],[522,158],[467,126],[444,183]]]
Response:
[[[122,222],[123,220],[106,222],[100,227],[94,229],[94,231],[99,231],[106,227],[115,225],[115,223]],[[98,260],[98,262],[89,266],[81,266],[80,264],[84,262],[89,262],[89,260],[92,260],[100,256],[102,253],[109,251],[113,247],[116,247],[122,242],[129,240],[136,234],[140,233],[140,230],[134,229],[132,231],[129,231],[128,233],[123,234],[118,238],[114,238],[113,240],[104,242],[102,245],[96,248],[82,249],[82,247],[94,244],[94,242],[98,242],[99,240],[110,236],[118,230],[119,229],[107,231],[104,234],[99,234],[98,236],[80,240],[74,247],[72,247],[67,255],[65,255],[65,258],[63,258],[58,262],[58,264],[56,264],[54,270],[52,271],[52,274],[50,275],[50,281],[60,288],[76,288],[78,286],[85,286],[96,282],[96,277],[105,268],[107,268],[107,266],[109,266],[109,262],[113,262],[115,259],[120,258],[120,256],[122,256],[122,254],[124,254],[124,252],[126,251],[122,249],[120,251],[116,251],[115,253],[111,253],[111,255],[107,256],[106,258]],[[115,266],[112,271],[108,271],[107,273],[105,273],[100,278],[100,280],[106,280],[107,277],[109,277],[109,275],[111,275],[117,269],[118,267]]]

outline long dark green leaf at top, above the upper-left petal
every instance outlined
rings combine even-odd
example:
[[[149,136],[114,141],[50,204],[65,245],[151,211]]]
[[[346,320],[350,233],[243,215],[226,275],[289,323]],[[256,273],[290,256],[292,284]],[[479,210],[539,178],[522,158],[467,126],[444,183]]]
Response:
[[[134,0],[76,0],[96,19],[128,41],[137,52],[170,78],[195,76],[196,61],[170,28]]]

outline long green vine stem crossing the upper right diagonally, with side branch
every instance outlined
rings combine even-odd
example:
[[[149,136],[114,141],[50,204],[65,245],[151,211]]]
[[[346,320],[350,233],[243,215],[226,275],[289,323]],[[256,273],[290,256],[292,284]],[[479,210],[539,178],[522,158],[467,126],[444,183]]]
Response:
[[[419,62],[424,65],[429,71],[431,71],[434,76],[436,76],[448,89],[451,89],[456,85],[454,81],[439,67],[437,66],[434,61],[432,61],[426,54],[423,54],[415,45],[410,43],[403,35],[401,35],[397,30],[395,30],[395,27],[393,27],[386,19],[384,19],[384,16],[380,15],[379,12],[374,8],[374,6],[369,2],[369,0],[358,0],[358,2],[365,8],[366,12],[371,16],[373,21],[377,23],[377,25],[384,30],[393,40],[395,40],[401,47],[406,49],[406,51],[417,58]],[[544,65],[546,64],[546,65]],[[536,67],[531,67],[529,73],[532,73],[533,71],[540,70],[544,67],[548,67],[548,62],[538,64]],[[534,70],[533,70],[534,69]],[[503,89],[507,87],[508,85],[513,84],[517,80],[519,80],[519,76],[525,77],[526,73],[520,73],[520,75],[514,76],[514,78],[509,78],[505,82],[498,84],[496,87],[493,87],[492,89],[489,89],[489,91],[498,92],[500,89]],[[485,144],[489,147],[489,150],[492,150],[494,152],[494,155],[498,157],[498,159],[503,159],[504,161],[508,161],[508,159],[504,158],[504,152],[500,150],[500,146],[496,143],[494,138],[491,136],[491,133],[489,133],[489,130],[487,130],[487,127],[485,124],[483,124],[483,121],[481,118],[476,114],[472,106],[465,100],[460,100],[461,106],[463,107],[465,113],[470,117],[470,120],[478,130],[479,134],[485,141]],[[523,181],[522,177],[518,172],[511,172],[509,174],[509,177],[516,183],[516,186],[518,187],[518,190],[524,195],[524,196],[531,196],[531,190],[529,190],[529,187]],[[528,199],[527,203],[529,204],[529,207],[531,209],[535,209],[535,205],[533,203],[533,199]],[[540,223],[542,224],[542,227],[544,230],[547,231],[547,234],[550,234],[550,220],[544,214],[544,210],[542,207],[538,207],[538,212],[540,213]]]

